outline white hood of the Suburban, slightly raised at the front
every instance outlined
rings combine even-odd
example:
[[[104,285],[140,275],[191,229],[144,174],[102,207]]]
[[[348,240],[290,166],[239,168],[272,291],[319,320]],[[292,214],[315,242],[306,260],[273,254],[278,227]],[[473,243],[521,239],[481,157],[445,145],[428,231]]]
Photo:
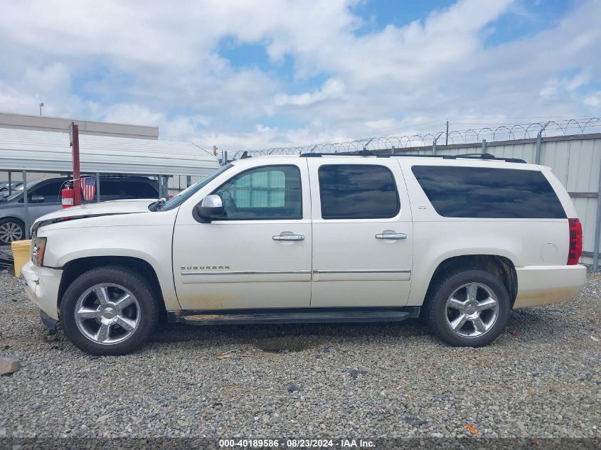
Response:
[[[114,200],[110,202],[71,206],[70,208],[63,208],[54,213],[43,215],[33,223],[31,230],[36,232],[36,230],[43,225],[63,222],[65,220],[83,219],[100,215],[148,213],[148,206],[154,201],[156,201],[156,199],[147,198],[145,200]]]

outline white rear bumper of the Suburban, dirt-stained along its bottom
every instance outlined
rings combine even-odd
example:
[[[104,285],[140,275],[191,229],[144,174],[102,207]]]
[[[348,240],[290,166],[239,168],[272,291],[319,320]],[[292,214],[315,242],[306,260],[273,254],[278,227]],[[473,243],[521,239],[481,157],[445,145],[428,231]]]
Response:
[[[516,267],[518,294],[514,309],[573,300],[586,282],[586,267]]]

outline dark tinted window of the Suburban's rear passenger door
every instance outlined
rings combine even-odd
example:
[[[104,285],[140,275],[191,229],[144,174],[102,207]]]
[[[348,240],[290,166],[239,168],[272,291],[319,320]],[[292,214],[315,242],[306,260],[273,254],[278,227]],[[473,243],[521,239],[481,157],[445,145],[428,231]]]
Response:
[[[318,175],[321,218],[378,219],[398,214],[393,173],[384,166],[321,166]]]

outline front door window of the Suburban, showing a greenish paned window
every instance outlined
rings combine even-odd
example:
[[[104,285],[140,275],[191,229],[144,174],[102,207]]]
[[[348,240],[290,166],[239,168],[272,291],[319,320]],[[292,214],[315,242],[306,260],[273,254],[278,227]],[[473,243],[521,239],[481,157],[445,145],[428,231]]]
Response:
[[[297,166],[253,168],[214,192],[223,200],[226,218],[300,219],[302,195]]]

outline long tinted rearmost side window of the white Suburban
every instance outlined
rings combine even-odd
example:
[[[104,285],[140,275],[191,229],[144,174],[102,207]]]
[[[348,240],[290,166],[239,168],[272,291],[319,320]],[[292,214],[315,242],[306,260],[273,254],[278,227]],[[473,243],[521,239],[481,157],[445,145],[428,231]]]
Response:
[[[411,170],[436,212],[445,217],[566,217],[540,171],[457,166],[413,166]]]

